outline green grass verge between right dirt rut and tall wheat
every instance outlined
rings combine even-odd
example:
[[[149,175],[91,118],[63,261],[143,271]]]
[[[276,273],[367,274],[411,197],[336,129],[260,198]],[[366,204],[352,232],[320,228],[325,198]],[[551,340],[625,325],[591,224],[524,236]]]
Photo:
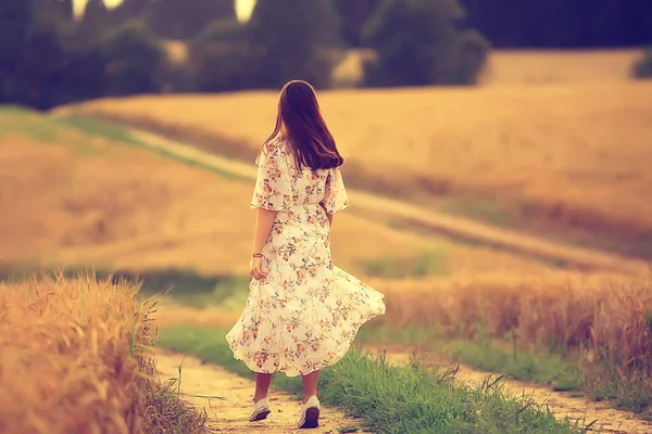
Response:
[[[652,420],[652,391],[644,373],[625,378],[618,370],[600,360],[581,362],[579,355],[560,354],[554,349],[525,350],[509,340],[443,339],[435,328],[396,328],[371,321],[360,330],[356,341],[362,344],[401,344],[418,346],[432,353],[452,356],[471,368],[509,374],[516,380],[546,385],[553,391],[570,392],[612,407],[639,413]]]

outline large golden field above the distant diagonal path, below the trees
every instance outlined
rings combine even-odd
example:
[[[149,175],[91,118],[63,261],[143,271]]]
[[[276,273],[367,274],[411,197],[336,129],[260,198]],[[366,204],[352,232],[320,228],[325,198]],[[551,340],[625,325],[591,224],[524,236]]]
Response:
[[[337,90],[319,98],[352,186],[429,204],[498,199],[525,224],[650,238],[652,82]],[[237,92],[65,110],[253,161],[276,103],[277,92]]]

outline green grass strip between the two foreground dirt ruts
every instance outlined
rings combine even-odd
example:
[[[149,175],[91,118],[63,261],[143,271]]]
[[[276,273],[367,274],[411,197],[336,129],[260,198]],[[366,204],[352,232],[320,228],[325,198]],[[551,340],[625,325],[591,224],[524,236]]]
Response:
[[[215,329],[172,328],[161,332],[160,345],[253,378],[233,358],[224,336],[224,331]],[[350,352],[325,369],[319,381],[324,404],[362,418],[376,433],[582,432],[579,423],[556,421],[525,398],[507,397],[500,379],[465,386],[455,382],[453,372],[435,372],[416,360],[411,366],[392,366],[383,356]],[[299,378],[276,375],[273,385],[296,393],[301,390]]]

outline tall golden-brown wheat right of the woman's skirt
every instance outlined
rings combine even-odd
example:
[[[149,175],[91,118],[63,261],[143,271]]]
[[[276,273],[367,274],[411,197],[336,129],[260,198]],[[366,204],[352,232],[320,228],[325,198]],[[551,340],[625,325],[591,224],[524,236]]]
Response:
[[[635,411],[652,405],[652,278],[543,277],[391,282],[379,323],[430,327],[439,339],[493,341],[578,361],[594,397]]]

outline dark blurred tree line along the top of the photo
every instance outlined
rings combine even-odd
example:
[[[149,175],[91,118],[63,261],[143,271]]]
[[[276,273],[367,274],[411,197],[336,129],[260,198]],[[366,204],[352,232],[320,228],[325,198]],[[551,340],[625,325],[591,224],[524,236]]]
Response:
[[[639,0],[613,0],[614,4],[628,1]],[[279,88],[293,78],[325,88],[350,47],[371,48],[377,54],[364,65],[362,86],[473,85],[491,44],[531,42],[543,35],[538,30],[544,28],[542,23],[551,26],[546,43],[568,35],[590,35],[568,24],[573,20],[554,15],[552,9],[546,14],[532,7],[561,8],[561,0],[513,0],[514,8],[487,9],[501,2],[510,3],[259,0],[251,20],[241,24],[234,0],[124,0],[111,10],[102,0],[89,0],[79,20],[73,16],[73,0],[2,0],[0,101],[47,110],[135,93]],[[501,22],[518,25],[497,24]],[[168,56],[168,40],[184,41],[185,62]],[[642,65],[639,69],[648,71]]]

